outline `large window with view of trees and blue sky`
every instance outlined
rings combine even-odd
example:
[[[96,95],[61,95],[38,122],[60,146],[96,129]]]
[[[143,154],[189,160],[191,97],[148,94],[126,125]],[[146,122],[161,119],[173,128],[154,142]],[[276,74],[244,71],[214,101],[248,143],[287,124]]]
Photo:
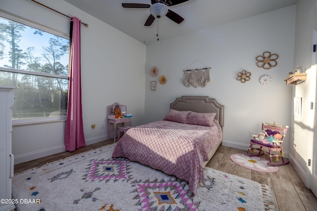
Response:
[[[20,22],[0,16],[0,86],[15,87],[12,120],[65,118],[69,40]]]

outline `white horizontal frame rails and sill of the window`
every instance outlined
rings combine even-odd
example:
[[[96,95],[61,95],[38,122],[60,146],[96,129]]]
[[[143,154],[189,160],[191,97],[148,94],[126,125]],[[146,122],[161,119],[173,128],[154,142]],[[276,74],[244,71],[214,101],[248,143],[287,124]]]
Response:
[[[58,30],[54,30],[53,28],[36,23],[34,21],[27,20],[27,19],[22,18],[20,16],[8,14],[8,13],[2,12],[2,11],[0,11],[0,16],[3,18],[7,18],[7,19],[19,22],[21,24],[24,24],[26,26],[30,26],[30,27],[33,27],[36,29],[40,29],[42,31],[45,31],[45,32],[51,33],[53,35],[59,36],[61,38],[69,40],[69,34],[62,33]],[[15,73],[21,73],[21,74],[28,74],[28,75],[37,75],[37,76],[44,76],[44,77],[51,77],[51,78],[61,78],[61,79],[67,79],[69,81],[69,76],[54,75],[54,74],[44,73],[44,72],[18,70],[18,69],[5,68],[5,67],[0,67],[0,71],[15,72]],[[67,102],[67,104],[68,104],[68,102]],[[66,121],[66,116],[40,117],[40,118],[28,118],[28,119],[12,119],[12,126],[42,124],[42,123],[50,123],[50,122],[58,122],[58,121]]]

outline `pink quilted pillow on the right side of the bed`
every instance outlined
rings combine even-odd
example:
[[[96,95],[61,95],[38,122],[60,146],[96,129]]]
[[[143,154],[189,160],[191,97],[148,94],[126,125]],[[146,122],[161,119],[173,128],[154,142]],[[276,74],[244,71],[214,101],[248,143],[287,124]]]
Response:
[[[216,113],[197,113],[191,111],[187,117],[186,124],[197,124],[211,127],[213,125],[213,118]]]

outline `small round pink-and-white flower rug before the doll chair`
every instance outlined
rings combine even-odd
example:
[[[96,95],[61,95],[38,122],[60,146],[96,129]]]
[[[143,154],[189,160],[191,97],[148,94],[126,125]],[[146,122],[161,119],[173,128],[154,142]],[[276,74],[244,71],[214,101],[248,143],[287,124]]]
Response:
[[[251,170],[255,171],[261,171],[261,172],[275,172],[278,171],[277,166],[271,166],[268,165],[267,159],[260,158],[257,156],[249,157],[244,154],[233,154],[230,156],[230,159],[237,163],[238,165],[241,165],[245,168],[249,168]]]

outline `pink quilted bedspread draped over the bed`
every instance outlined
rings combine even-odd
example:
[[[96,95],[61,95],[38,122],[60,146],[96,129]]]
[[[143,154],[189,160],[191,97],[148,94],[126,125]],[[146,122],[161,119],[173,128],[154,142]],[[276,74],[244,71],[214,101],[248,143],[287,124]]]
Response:
[[[128,158],[174,175],[187,181],[195,194],[205,176],[202,163],[221,141],[221,127],[215,120],[211,127],[163,120],[129,129],[112,158]]]

